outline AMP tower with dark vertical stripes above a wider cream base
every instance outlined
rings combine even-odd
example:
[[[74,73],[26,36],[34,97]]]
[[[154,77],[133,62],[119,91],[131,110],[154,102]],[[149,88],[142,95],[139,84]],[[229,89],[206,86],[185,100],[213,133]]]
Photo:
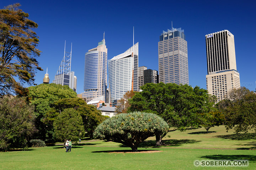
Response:
[[[228,30],[206,35],[206,56],[207,90],[209,94],[217,96],[219,102],[231,89],[240,88],[234,35]]]

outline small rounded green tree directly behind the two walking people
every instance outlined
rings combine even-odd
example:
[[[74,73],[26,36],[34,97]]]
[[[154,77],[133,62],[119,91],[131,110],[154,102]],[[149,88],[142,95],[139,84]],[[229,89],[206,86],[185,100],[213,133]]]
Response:
[[[82,117],[78,111],[73,108],[64,109],[54,120],[54,137],[58,141],[70,139],[78,141],[84,134]]]

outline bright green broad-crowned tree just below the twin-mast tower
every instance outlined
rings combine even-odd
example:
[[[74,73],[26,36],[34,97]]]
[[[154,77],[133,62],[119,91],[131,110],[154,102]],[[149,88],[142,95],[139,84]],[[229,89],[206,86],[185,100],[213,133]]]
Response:
[[[76,98],[76,92],[67,85],[60,84],[39,84],[37,86],[28,87],[28,99],[35,106],[36,127],[39,130],[36,134],[38,138],[43,140],[52,140],[53,126],[48,126],[44,122],[47,112],[55,113],[51,110],[54,102],[63,98]]]

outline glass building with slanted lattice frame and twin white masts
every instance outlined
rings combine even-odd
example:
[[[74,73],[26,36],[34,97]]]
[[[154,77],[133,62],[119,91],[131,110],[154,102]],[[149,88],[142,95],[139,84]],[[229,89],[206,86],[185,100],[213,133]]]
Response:
[[[55,74],[53,83],[68,85],[70,89],[74,90],[74,76],[75,72],[71,72],[71,53],[72,53],[72,44],[71,52],[66,52],[66,42],[64,48],[64,57],[60,63],[59,69]]]

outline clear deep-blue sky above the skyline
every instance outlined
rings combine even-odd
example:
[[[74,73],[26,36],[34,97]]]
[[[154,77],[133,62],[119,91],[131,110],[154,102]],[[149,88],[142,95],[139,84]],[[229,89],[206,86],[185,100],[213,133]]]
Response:
[[[229,30],[235,37],[236,65],[240,84],[256,88],[256,1],[70,1],[2,0],[0,8],[19,2],[21,9],[38,23],[39,66],[35,83],[41,84],[46,68],[50,82],[66,51],[72,46],[71,71],[78,94],[84,87],[85,53],[103,39],[108,60],[139,42],[139,67],[158,70],[158,41],[162,30],[184,29],[188,44],[189,85],[206,89],[205,35]]]

